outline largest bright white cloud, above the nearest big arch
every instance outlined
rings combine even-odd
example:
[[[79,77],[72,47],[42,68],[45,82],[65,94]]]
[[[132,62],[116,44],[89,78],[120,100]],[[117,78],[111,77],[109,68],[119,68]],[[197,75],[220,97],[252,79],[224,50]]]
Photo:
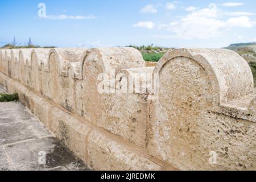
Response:
[[[223,14],[217,6],[211,4],[208,8],[193,11],[175,22],[158,24],[158,28],[174,33],[170,38],[209,39],[224,36],[233,27],[250,28],[256,24],[248,16],[224,19]]]

